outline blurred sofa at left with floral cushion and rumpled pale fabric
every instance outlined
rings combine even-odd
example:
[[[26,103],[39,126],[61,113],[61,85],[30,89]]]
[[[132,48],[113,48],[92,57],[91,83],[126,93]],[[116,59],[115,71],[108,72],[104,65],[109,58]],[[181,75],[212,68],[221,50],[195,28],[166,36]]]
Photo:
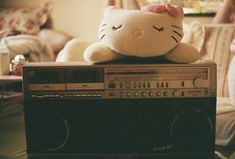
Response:
[[[29,62],[54,61],[72,36],[52,29],[50,2],[39,7],[0,8],[0,44],[10,59],[24,55]]]

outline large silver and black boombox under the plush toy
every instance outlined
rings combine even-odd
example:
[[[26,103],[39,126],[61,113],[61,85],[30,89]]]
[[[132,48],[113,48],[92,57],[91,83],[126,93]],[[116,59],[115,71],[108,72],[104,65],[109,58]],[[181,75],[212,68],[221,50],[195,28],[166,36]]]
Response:
[[[31,158],[213,158],[213,62],[29,63],[23,88]]]

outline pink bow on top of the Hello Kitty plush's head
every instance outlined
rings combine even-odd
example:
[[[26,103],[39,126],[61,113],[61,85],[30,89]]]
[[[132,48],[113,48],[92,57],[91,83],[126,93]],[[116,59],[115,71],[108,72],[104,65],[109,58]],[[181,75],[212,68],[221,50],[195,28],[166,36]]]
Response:
[[[166,5],[147,5],[141,8],[144,12],[152,13],[164,13],[167,12],[172,17],[177,17],[183,14],[183,9],[180,7],[175,7],[170,4]]]

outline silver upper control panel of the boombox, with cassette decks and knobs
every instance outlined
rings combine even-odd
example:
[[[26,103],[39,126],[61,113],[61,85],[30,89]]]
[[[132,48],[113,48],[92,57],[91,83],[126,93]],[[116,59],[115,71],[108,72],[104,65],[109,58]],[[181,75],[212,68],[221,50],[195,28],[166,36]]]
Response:
[[[185,98],[216,96],[216,64],[29,63],[25,98]]]

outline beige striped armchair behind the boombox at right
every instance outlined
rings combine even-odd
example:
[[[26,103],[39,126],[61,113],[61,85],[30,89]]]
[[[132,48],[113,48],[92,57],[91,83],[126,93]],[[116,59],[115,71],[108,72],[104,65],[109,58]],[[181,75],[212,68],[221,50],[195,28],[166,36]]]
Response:
[[[235,25],[194,22],[189,28],[185,40],[200,50],[202,59],[217,64],[216,144],[235,151],[235,53],[230,51]]]

